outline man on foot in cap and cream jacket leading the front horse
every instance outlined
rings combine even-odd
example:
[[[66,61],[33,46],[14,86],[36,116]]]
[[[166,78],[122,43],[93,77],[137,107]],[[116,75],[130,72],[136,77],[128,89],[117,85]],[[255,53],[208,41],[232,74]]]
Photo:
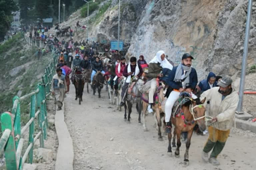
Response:
[[[235,117],[238,104],[238,93],[232,88],[232,79],[225,76],[213,87],[202,93],[200,100],[206,98],[209,103],[208,115],[213,117],[212,124],[208,127],[209,138],[204,146],[202,159],[212,165],[219,165],[217,156],[225,146],[230,129]],[[210,158],[208,153],[212,150]]]

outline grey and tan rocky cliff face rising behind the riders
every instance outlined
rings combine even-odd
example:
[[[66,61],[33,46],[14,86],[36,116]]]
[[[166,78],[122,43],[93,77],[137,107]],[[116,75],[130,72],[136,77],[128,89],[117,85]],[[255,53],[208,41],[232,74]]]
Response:
[[[200,78],[209,71],[238,77],[241,70],[247,0],[125,0],[121,2],[120,39],[130,43],[127,57],[151,60],[164,50],[178,64],[188,52]],[[255,63],[256,3],[253,4],[248,65]],[[93,15],[92,15],[93,16]],[[83,22],[86,23],[87,19]],[[74,21],[75,22],[75,21]],[[90,25],[95,41],[117,39],[118,0],[100,22]],[[86,34],[79,35],[86,39]]]

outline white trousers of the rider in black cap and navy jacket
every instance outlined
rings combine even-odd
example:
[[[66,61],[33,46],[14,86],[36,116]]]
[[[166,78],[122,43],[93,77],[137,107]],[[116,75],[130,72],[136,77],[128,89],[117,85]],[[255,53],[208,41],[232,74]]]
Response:
[[[172,91],[165,103],[165,122],[169,122],[172,115],[172,107],[175,104],[176,100],[180,97],[180,92]],[[192,99],[197,99],[197,96],[194,93],[190,93]]]

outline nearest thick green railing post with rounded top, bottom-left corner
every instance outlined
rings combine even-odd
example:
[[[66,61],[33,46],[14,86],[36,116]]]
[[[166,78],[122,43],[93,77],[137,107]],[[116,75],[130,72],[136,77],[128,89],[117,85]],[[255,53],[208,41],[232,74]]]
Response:
[[[5,112],[1,115],[1,128],[2,128],[2,132],[4,132],[5,129],[11,130],[11,134],[9,136],[9,139],[4,149],[6,170],[17,169],[16,147],[15,147],[13,120],[12,120],[11,113]]]

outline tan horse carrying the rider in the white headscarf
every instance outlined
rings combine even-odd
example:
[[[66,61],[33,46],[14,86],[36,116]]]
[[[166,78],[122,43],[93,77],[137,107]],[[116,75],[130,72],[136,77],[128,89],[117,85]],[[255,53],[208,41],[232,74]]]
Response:
[[[159,86],[157,88],[157,92],[154,95],[155,101],[154,104],[152,105],[152,109],[154,111],[153,116],[156,121],[156,129],[158,130],[158,140],[163,141],[163,136],[161,133],[161,118],[164,117],[164,113],[161,109],[161,103],[164,101],[164,94],[163,94],[163,86]],[[148,128],[146,127],[146,112],[148,108],[148,101],[145,99],[147,94],[142,94],[142,112],[143,112],[143,129],[144,131],[148,131]],[[164,124],[165,126],[165,124]]]

